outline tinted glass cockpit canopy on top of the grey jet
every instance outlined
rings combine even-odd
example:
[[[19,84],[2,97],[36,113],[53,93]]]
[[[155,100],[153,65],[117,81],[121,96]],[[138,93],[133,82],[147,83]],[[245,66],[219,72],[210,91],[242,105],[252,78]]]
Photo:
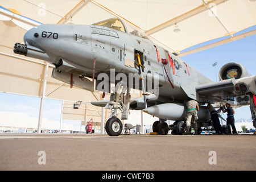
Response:
[[[139,36],[144,39],[148,39],[148,37],[146,36],[146,34],[144,34],[144,32],[138,31],[135,28],[129,27],[130,29],[128,31],[125,24],[119,18],[107,19],[102,22],[94,23],[93,25],[108,27],[108,28],[112,28],[114,30],[125,32],[125,33],[129,32],[131,35],[135,35],[135,36]]]

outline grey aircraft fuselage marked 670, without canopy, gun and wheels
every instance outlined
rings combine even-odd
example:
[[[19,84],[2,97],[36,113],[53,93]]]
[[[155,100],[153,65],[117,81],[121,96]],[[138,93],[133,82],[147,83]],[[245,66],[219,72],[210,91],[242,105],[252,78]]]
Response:
[[[159,95],[176,100],[197,99],[195,87],[212,82],[190,65],[151,40],[96,25],[42,24],[24,35],[27,56],[79,70],[95,77],[104,72],[138,73],[135,52],[141,54],[143,75],[159,76]],[[36,51],[33,49],[40,49]],[[61,61],[60,61],[61,60]],[[57,67],[57,66],[56,66]]]

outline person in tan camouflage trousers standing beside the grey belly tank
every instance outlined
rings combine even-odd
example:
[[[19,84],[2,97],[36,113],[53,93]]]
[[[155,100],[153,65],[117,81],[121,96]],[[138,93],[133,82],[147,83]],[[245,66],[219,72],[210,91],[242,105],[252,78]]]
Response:
[[[195,129],[195,135],[197,135],[197,111],[199,110],[199,104],[195,100],[189,100],[186,103],[187,105],[187,114],[185,117],[185,123],[186,123],[186,132],[183,135],[190,134],[190,125],[191,125],[191,119],[193,119],[192,123],[194,123],[194,129]]]

